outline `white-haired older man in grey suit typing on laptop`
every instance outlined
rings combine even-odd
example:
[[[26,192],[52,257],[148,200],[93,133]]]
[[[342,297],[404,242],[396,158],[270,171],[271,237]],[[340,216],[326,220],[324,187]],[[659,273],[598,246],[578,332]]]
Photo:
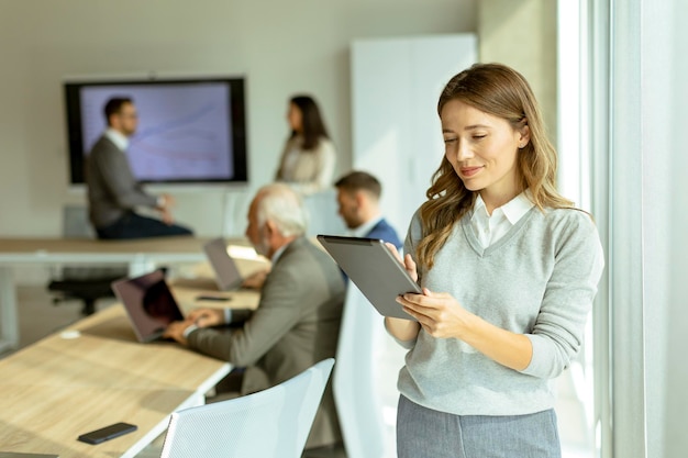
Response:
[[[334,357],[344,302],[336,264],[304,236],[301,198],[287,185],[260,188],[248,210],[246,236],[271,269],[253,311],[200,309],[165,333],[204,355],[245,367],[240,392],[278,384]],[[236,326],[237,323],[242,323]],[[232,324],[229,332],[210,326]],[[332,389],[323,395],[307,448],[341,443]]]

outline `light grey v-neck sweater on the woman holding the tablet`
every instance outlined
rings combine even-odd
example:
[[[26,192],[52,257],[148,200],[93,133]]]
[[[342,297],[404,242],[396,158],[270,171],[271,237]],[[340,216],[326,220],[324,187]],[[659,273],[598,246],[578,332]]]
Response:
[[[413,216],[404,253],[414,256],[420,221]],[[421,286],[448,292],[469,312],[533,344],[523,371],[487,358],[456,338],[422,329],[399,372],[411,401],[456,415],[520,415],[554,406],[554,378],[580,349],[603,269],[597,228],[585,212],[531,209],[499,241],[482,248],[466,214],[435,255]]]

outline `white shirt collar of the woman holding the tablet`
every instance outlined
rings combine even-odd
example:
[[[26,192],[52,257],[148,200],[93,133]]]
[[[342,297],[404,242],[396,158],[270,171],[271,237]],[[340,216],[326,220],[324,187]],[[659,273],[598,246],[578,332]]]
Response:
[[[503,205],[495,209],[492,214],[487,213],[485,201],[480,194],[473,206],[470,224],[476,232],[482,248],[487,248],[499,241],[509,230],[519,222],[535,204],[528,198],[528,191],[521,192]]]

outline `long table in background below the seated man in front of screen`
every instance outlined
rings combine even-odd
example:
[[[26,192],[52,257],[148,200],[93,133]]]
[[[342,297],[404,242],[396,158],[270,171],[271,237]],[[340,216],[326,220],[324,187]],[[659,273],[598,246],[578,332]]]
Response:
[[[151,271],[157,265],[206,260],[197,237],[160,237],[136,241],[89,238],[0,239],[0,353],[16,348],[19,324],[12,267],[18,265],[107,265],[127,264],[130,276]],[[230,244],[246,245],[243,239]]]

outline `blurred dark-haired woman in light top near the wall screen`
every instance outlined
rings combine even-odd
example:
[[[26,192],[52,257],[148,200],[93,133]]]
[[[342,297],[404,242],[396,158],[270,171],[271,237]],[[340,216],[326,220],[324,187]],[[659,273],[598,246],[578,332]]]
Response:
[[[287,120],[291,135],[285,145],[275,176],[302,194],[328,189],[332,185],[336,154],[320,110],[309,96],[289,100]]]

